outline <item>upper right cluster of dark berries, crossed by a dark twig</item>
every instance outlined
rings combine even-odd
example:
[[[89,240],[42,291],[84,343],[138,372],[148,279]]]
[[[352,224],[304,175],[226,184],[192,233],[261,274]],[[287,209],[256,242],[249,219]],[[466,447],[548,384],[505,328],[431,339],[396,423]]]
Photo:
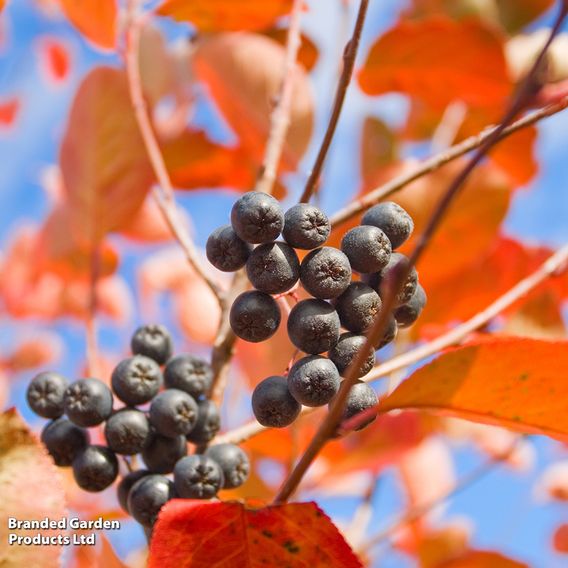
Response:
[[[231,225],[215,230],[207,241],[207,257],[216,268],[235,271],[246,267],[254,287],[238,296],[231,307],[234,333],[245,341],[264,341],[281,323],[275,295],[290,293],[300,282],[311,296],[292,308],[287,324],[290,341],[306,356],[295,362],[286,377],[271,376],[256,387],[252,408],[258,422],[288,426],[302,405],[331,402],[381,311],[386,284],[399,263],[408,263],[403,254],[393,251],[413,229],[412,218],[402,207],[381,203],[343,236],[339,250],[325,246],[331,226],[313,205],[300,203],[284,213],[276,199],[259,192],[246,193],[235,202]],[[277,240],[280,235],[283,240]],[[301,262],[297,249],[310,251]],[[354,272],[359,280],[353,279]],[[396,301],[376,350],[420,315],[426,295],[416,270],[410,271]],[[371,352],[357,378],[365,376],[374,363]],[[344,418],[376,403],[375,392],[359,382],[351,389]]]

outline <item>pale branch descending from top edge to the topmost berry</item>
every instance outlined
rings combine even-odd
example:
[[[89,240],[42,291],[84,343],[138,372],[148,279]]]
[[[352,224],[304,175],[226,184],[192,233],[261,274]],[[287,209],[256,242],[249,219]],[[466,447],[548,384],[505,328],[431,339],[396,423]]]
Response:
[[[296,60],[302,44],[300,36],[300,15],[303,0],[294,0],[290,13],[290,27],[286,40],[286,58],[284,61],[284,78],[278,95],[278,102],[270,116],[270,134],[264,153],[264,161],[260,170],[260,177],[256,182],[255,191],[272,193],[274,181],[278,171],[278,163],[282,155],[282,148],[290,126],[290,111],[292,95],[294,93],[294,79],[296,78]]]

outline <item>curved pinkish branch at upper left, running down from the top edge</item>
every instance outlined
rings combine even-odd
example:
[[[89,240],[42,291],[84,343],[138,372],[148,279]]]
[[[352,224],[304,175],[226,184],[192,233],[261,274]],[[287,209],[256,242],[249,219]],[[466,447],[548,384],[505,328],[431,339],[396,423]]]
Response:
[[[136,122],[138,123],[146,153],[148,154],[150,164],[158,182],[157,189],[154,191],[153,196],[164,220],[183,249],[187,261],[207,286],[209,286],[219,303],[223,305],[223,293],[203,265],[187,231],[185,222],[180,215],[175,199],[174,188],[156,134],[152,128],[140,78],[139,51],[142,20],[140,15],[136,14],[136,5],[136,0],[129,0],[126,25],[126,74]]]

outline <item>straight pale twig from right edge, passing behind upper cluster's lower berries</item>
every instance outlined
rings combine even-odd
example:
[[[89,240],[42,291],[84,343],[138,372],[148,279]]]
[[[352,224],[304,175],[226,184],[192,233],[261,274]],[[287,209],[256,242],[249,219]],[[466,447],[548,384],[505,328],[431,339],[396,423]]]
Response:
[[[410,365],[415,365],[443,349],[459,344],[470,333],[487,325],[487,323],[493,318],[520,300],[523,296],[526,296],[548,278],[561,273],[566,269],[567,264],[568,244],[564,245],[561,249],[551,255],[537,270],[535,270],[535,272],[515,284],[515,286],[505,292],[505,294],[497,298],[497,300],[471,319],[420,347],[416,347],[407,353],[398,355],[385,363],[376,365],[370,373],[361,380],[367,383],[376,381],[394,373],[395,371],[404,369]],[[317,409],[306,407],[302,409],[302,414],[310,414],[314,410]],[[264,430],[267,430],[267,428],[261,426],[258,422],[251,421],[219,436],[216,439],[216,443],[232,442],[234,444],[240,444],[249,438],[264,432]]]

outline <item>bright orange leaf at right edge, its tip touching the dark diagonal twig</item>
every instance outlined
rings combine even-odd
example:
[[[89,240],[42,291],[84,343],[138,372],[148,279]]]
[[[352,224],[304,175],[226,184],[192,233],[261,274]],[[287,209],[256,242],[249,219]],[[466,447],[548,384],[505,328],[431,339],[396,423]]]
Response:
[[[420,408],[568,439],[568,342],[500,338],[450,350],[416,371],[381,410]]]

